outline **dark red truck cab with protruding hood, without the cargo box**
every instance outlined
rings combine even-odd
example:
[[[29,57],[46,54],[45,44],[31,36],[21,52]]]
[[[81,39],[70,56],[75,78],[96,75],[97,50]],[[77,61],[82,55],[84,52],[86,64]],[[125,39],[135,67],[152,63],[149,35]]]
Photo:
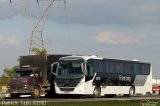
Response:
[[[12,98],[31,94],[33,98],[41,95],[42,77],[38,67],[23,67],[16,70],[13,80],[8,84]]]

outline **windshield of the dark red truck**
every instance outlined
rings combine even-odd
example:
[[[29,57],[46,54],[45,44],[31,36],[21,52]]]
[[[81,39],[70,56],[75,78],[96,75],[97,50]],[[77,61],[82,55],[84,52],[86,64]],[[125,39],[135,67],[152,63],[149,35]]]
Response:
[[[31,76],[33,76],[33,71],[26,70],[26,71],[17,71],[14,77],[31,77]]]

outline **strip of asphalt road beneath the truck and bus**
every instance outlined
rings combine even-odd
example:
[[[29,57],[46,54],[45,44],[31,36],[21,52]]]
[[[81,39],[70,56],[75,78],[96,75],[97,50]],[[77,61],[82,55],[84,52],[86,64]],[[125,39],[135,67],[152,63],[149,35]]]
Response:
[[[92,98],[92,97],[58,97],[58,98],[45,98],[41,97],[38,99],[33,99],[31,97],[21,97],[19,99],[5,98],[1,99],[0,102],[8,101],[37,101],[37,102],[83,102],[83,101],[108,101],[108,100],[160,100],[159,95],[152,96],[134,96],[134,97],[101,97],[101,98]]]

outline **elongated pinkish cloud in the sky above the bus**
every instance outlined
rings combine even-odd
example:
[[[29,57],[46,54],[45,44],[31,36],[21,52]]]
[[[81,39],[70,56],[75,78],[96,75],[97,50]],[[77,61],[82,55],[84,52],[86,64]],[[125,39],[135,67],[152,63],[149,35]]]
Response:
[[[100,32],[96,42],[102,44],[136,44],[139,40],[119,32]]]

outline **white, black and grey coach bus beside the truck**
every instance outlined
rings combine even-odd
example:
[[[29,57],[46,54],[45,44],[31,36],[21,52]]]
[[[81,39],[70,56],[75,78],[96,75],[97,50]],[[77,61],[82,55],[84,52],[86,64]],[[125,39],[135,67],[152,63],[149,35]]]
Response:
[[[134,96],[152,92],[149,63],[101,58],[66,56],[52,64],[57,94]]]

